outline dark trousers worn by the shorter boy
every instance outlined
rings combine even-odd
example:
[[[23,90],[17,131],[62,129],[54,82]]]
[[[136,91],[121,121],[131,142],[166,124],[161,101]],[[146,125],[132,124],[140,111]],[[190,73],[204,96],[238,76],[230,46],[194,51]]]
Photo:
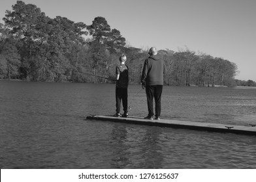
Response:
[[[123,111],[127,113],[128,94],[127,88],[116,88],[116,112],[120,112],[121,102],[123,103]]]

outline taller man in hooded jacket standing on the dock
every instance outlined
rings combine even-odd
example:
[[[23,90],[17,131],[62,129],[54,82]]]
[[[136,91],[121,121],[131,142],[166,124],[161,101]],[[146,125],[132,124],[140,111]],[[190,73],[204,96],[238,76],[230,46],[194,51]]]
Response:
[[[165,62],[157,56],[157,49],[151,47],[145,60],[140,82],[142,89],[146,87],[148,116],[145,119],[153,120],[153,99],[155,99],[155,120],[160,120],[161,96],[163,91],[163,75],[166,72]]]

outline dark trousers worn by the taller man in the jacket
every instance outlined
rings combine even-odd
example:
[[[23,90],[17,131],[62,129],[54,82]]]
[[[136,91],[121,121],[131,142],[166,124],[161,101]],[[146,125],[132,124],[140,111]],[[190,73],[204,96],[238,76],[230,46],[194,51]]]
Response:
[[[155,99],[155,116],[160,116],[162,91],[163,91],[163,85],[146,86],[149,116],[153,116],[153,99]]]

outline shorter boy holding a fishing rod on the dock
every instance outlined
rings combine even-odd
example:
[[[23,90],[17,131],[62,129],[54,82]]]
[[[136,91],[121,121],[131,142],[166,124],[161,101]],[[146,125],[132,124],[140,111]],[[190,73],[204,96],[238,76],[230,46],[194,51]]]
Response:
[[[125,64],[126,56],[121,55],[120,57],[120,65],[116,66],[116,117],[124,117],[128,116],[128,84],[129,84],[129,74],[128,74],[128,66]],[[120,114],[121,102],[123,103],[123,114]]]

